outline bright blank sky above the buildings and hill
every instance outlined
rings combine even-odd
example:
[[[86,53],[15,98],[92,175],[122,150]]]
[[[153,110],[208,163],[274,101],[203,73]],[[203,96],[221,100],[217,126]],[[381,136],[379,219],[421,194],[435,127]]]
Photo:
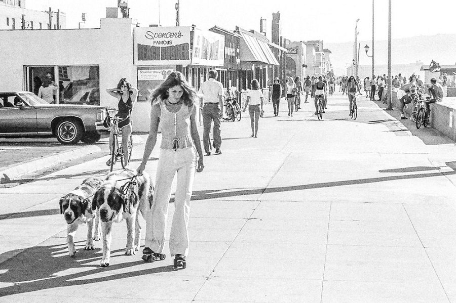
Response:
[[[129,0],[130,17],[140,26],[174,26],[177,0]],[[388,0],[374,0],[375,40],[388,38]],[[27,0],[29,9],[52,7],[65,12],[67,28],[78,28],[86,13],[86,27],[99,27],[106,7],[117,0]],[[160,6],[160,10],[159,10]],[[160,11],[160,14],[159,14]],[[392,0],[392,37],[456,33],[455,0]],[[372,38],[371,0],[180,0],[180,25],[195,24],[208,29],[217,25],[234,30],[235,26],[259,31],[259,19],[267,19],[271,35],[272,13],[281,13],[282,35],[290,40],[353,41],[356,20],[358,39]]]

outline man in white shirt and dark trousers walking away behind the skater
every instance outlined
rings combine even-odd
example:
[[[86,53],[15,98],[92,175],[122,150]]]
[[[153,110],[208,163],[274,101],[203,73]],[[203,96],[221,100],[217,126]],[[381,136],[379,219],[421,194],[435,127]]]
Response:
[[[217,81],[218,72],[215,69],[209,71],[209,79],[200,86],[199,94],[202,94],[203,105],[203,146],[206,156],[211,155],[211,139],[209,133],[214,121],[213,147],[217,155],[221,154],[220,118],[223,116],[223,85]]]

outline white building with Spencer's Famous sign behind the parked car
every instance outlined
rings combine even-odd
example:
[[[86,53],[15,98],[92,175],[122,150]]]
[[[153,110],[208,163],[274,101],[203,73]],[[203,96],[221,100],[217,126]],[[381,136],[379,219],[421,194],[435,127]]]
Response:
[[[100,28],[0,30],[0,91],[37,94],[50,74],[63,86],[56,102],[117,108],[107,88],[126,77],[138,88],[134,131],[149,130],[151,90],[173,71],[197,89],[207,72],[223,67],[224,36],[187,27],[137,27],[130,18],[103,18]],[[24,41],[28,46],[24,47]]]

